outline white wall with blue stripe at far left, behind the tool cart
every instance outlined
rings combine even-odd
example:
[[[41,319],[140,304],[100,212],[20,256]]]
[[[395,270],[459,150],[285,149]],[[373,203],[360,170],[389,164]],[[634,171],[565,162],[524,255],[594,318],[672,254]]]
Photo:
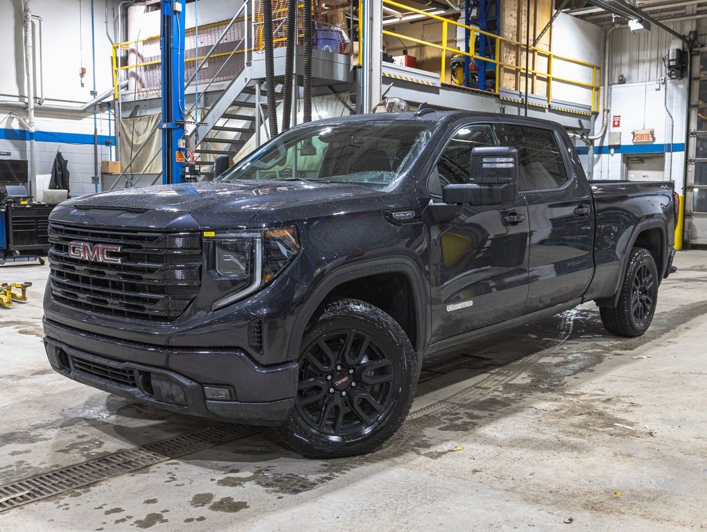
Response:
[[[117,0],[108,1],[109,26],[112,32],[112,12]],[[104,25],[104,1],[95,0],[96,84],[98,93],[112,87],[111,47]],[[91,57],[90,0],[32,0],[34,15],[42,18],[42,57],[40,57],[39,29],[35,25],[35,64],[37,72],[44,73],[44,97],[47,105],[78,106],[93,96],[93,61]],[[0,0],[0,100],[25,102],[25,66],[23,49],[23,2]],[[83,45],[83,46],[82,46]],[[83,48],[83,49],[82,49]],[[43,61],[43,64],[42,64]],[[81,87],[79,69],[86,68]],[[35,94],[40,96],[40,76],[35,78]],[[26,117],[26,111],[0,107],[0,151],[8,151],[11,158],[29,158],[28,142],[13,140],[25,131],[9,112]],[[94,191],[93,176],[93,114],[56,114],[37,107],[35,142],[35,174],[49,173],[57,148],[61,146],[69,160],[71,194]],[[98,135],[108,136],[107,114],[100,114]],[[112,128],[111,128],[112,129]],[[115,134],[115,130],[112,131]],[[78,135],[78,137],[76,136]],[[99,158],[107,160],[109,150],[99,148]]]

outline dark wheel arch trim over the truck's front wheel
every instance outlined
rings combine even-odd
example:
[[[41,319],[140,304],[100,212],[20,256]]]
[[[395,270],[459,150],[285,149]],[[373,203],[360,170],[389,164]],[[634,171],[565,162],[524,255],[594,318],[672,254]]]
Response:
[[[400,323],[399,319],[396,319],[395,313],[391,314],[389,312],[389,314],[400,323],[409,336],[410,326],[413,327],[414,334],[413,338],[410,339],[411,343],[418,353],[423,353],[424,348],[429,343],[428,312],[426,312],[426,297],[424,295],[427,283],[419,271],[419,266],[416,266],[407,259],[387,258],[377,261],[367,261],[363,264],[341,266],[332,273],[329,273],[317,284],[317,287],[313,290],[310,297],[308,297],[307,302],[305,302],[305,305],[295,321],[288,344],[287,359],[296,360],[298,358],[305,329],[310,319],[312,319],[312,316],[317,311],[317,308],[319,308],[323,302],[329,299],[329,297],[332,297],[332,295],[334,297],[337,295],[343,297],[345,295],[346,297],[354,297],[369,302],[371,305],[375,305],[375,302],[371,302],[369,300],[370,297],[366,297],[365,294],[363,294],[363,297],[357,297],[355,294],[351,294],[351,292],[341,292],[341,290],[345,290],[346,287],[351,288],[355,286],[356,283],[363,285],[363,283],[366,283],[366,280],[380,278],[381,276],[395,276],[394,278],[404,279],[407,283],[407,288],[413,303],[412,309],[414,317],[412,321],[407,324]],[[386,311],[385,308],[382,308],[382,310]],[[421,358],[420,356],[419,360],[421,360]]]

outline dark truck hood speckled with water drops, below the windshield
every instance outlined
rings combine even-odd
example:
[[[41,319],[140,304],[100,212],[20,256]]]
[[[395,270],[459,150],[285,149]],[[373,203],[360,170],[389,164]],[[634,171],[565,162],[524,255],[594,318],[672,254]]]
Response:
[[[62,203],[62,211],[66,208],[71,208],[74,213],[151,211],[153,214],[159,213],[159,218],[163,220],[172,218],[169,213],[173,214],[175,220],[186,214],[201,228],[233,229],[247,227],[255,216],[264,210],[269,213],[265,218],[283,223],[315,215],[312,211],[321,210],[323,213],[332,208],[332,202],[346,203],[353,198],[361,199],[361,196],[382,194],[382,191],[361,184],[303,181],[209,182],[158,185],[82,196]],[[286,218],[282,218],[282,215],[286,215]]]

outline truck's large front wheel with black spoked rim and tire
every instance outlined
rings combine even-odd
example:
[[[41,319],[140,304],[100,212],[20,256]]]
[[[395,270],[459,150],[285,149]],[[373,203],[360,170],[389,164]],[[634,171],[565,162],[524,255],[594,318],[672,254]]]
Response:
[[[318,459],[380,447],[402,425],[417,386],[416,353],[402,327],[366,302],[334,300],[317,309],[302,346],[298,395],[281,437]]]

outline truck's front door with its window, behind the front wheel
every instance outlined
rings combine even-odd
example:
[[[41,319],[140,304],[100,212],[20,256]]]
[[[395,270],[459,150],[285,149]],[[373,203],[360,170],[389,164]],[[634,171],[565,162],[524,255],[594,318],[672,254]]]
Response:
[[[441,203],[446,184],[471,177],[477,146],[498,146],[493,124],[455,129],[428,181],[432,201]],[[464,205],[455,218],[430,225],[433,341],[517,317],[528,290],[528,223],[525,199],[499,206]],[[520,220],[520,221],[519,221]]]

